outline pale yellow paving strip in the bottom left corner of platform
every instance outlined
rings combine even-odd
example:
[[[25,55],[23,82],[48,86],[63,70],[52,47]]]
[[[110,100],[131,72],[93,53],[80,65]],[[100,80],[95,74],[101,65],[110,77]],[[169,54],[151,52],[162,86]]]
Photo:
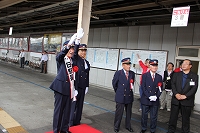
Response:
[[[8,133],[28,133],[20,124],[15,121],[8,113],[0,108],[0,124]]]

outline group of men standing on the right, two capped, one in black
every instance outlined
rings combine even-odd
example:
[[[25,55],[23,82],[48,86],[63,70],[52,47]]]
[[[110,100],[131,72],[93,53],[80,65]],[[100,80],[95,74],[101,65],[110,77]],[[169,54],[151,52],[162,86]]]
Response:
[[[139,55],[138,55],[139,58]],[[134,99],[132,87],[135,81],[135,73],[130,70],[130,58],[121,60],[122,69],[116,71],[112,85],[116,101],[116,112],[114,120],[114,132],[119,132],[123,111],[126,111],[125,126],[129,132],[131,127],[132,103]],[[194,107],[195,93],[198,88],[198,75],[191,72],[192,62],[183,60],[179,71],[173,71],[173,63],[167,64],[164,76],[157,72],[158,60],[146,60],[145,64],[139,60],[143,68],[140,81],[140,102],[141,102],[141,131],[147,131],[148,113],[150,113],[150,132],[156,132],[158,109],[165,108],[171,111],[168,133],[175,133],[179,111],[182,114],[182,133],[190,132],[190,115]]]

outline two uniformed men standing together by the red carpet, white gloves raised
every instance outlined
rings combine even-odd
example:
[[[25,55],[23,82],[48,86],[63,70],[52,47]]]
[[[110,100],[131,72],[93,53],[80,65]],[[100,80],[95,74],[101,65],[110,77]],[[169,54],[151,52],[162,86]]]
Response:
[[[80,124],[83,102],[89,87],[90,64],[85,59],[87,46],[80,44],[80,28],[56,56],[58,73],[50,88],[54,91],[53,132],[71,133]]]

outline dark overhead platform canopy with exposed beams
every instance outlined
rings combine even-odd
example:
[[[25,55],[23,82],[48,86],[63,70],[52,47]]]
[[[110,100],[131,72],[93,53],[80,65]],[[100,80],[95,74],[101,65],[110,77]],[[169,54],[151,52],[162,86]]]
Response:
[[[173,7],[190,6],[200,22],[199,0],[92,0],[90,27],[170,24]],[[76,29],[79,0],[0,0],[0,33]]]

